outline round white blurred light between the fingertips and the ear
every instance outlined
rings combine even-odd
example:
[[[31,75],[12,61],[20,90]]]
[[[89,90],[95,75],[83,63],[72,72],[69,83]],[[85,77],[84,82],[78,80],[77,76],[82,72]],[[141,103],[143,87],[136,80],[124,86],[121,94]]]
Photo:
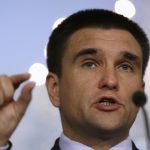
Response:
[[[30,81],[36,82],[37,86],[43,85],[48,74],[47,68],[41,63],[34,63],[28,71],[31,74]]]

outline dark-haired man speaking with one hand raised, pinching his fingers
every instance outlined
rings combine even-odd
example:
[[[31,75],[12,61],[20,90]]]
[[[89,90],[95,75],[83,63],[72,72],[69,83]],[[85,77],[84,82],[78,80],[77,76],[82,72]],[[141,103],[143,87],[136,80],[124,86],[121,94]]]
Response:
[[[149,51],[136,23],[107,10],[77,12],[53,31],[46,87],[59,108],[63,133],[52,150],[137,149],[129,137],[139,110],[132,96],[144,92]],[[5,149],[31,99],[34,83],[27,83],[13,101],[15,89],[28,78],[0,77],[0,146]]]

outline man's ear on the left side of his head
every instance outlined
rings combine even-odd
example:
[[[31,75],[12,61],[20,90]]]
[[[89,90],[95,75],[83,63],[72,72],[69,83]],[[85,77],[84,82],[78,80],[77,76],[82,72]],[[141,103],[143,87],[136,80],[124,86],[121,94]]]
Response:
[[[46,88],[49,98],[55,107],[60,106],[59,98],[59,79],[56,74],[49,73],[46,78]]]

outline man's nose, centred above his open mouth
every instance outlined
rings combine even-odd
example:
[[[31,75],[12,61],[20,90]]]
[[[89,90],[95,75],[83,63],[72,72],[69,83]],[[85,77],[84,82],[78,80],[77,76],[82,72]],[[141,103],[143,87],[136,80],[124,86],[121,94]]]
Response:
[[[118,74],[115,68],[107,68],[103,71],[99,81],[99,88],[103,90],[118,90]]]

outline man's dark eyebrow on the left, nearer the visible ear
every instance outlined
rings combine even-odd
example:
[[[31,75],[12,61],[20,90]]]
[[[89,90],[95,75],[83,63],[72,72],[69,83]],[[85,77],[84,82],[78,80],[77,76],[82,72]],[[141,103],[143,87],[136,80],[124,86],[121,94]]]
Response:
[[[82,49],[74,56],[73,62],[76,61],[79,57],[86,56],[86,55],[95,55],[96,53],[97,53],[97,49],[95,48]]]

